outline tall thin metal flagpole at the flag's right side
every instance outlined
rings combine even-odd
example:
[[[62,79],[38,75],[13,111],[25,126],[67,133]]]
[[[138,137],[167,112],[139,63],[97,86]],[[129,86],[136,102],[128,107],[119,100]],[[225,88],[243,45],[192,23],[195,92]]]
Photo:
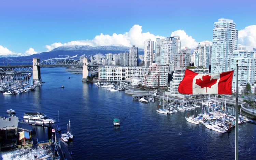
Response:
[[[238,160],[238,60],[237,60],[237,79],[236,79],[236,156]]]

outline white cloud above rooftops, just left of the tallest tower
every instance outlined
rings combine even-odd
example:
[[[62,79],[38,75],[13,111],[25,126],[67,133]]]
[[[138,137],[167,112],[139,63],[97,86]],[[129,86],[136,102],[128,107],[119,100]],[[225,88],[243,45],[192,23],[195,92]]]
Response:
[[[171,36],[179,36],[181,41],[181,49],[188,47],[193,48],[198,45],[198,42],[195,41],[191,36],[187,35],[184,30],[176,30],[172,32]]]

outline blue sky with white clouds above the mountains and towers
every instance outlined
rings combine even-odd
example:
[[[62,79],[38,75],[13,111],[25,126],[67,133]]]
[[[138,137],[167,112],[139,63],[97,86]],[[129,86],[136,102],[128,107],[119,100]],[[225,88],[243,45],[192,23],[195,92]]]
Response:
[[[136,45],[174,35],[182,47],[212,41],[214,22],[232,19],[239,44],[256,48],[252,0],[4,0],[0,56],[30,55],[62,45]]]

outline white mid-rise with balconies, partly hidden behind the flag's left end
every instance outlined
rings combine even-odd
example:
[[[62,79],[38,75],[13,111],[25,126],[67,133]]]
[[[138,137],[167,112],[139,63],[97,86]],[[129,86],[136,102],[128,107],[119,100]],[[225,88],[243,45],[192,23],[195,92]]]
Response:
[[[178,92],[179,84],[184,78],[186,68],[187,67],[180,67],[174,69],[172,81],[170,82],[168,91],[165,92],[166,95],[178,98],[185,98],[185,96],[188,96]],[[206,68],[194,68],[189,70],[200,74],[209,74],[209,69]]]

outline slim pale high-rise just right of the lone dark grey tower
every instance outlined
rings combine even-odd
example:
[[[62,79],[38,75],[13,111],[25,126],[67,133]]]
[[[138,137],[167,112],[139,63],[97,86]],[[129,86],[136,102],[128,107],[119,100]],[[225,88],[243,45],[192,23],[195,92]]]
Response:
[[[153,50],[154,50],[154,41],[151,41],[151,39],[144,41],[144,61],[145,61],[146,67],[151,66],[153,62],[153,56],[154,56]]]

